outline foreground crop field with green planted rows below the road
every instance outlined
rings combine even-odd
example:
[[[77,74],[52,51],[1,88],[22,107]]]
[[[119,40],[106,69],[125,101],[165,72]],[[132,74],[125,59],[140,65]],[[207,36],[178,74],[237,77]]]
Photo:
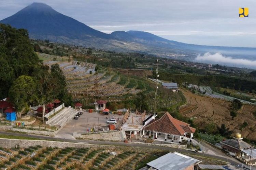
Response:
[[[0,168],[8,170],[135,169],[147,153],[95,148],[0,148]]]

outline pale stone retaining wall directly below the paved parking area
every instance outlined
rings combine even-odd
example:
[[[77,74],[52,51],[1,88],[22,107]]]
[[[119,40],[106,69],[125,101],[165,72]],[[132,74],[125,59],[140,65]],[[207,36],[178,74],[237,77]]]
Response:
[[[111,140],[111,141],[124,141],[122,131],[113,131],[113,132],[102,132],[94,134],[79,134],[74,133],[75,138],[81,139],[94,139],[94,140]]]

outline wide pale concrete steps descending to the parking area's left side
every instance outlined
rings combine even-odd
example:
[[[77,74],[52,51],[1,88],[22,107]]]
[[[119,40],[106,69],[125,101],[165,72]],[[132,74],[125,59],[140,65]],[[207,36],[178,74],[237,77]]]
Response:
[[[59,125],[60,127],[65,126],[74,116],[76,115],[76,110],[71,106],[65,107],[60,113],[55,115],[52,119],[48,121],[51,126]]]

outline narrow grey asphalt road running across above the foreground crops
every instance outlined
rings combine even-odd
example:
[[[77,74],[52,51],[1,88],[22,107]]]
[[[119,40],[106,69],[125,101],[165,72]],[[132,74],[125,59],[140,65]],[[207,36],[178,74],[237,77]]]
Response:
[[[15,135],[15,136],[23,136],[23,137],[32,137],[32,138],[39,138],[39,139],[48,139],[48,140],[58,140],[58,141],[65,141],[65,142],[76,142],[76,143],[88,143],[93,145],[109,145],[109,146],[126,146],[126,147],[138,147],[138,148],[148,148],[148,149],[158,149],[162,151],[169,151],[169,152],[180,152],[184,154],[192,154],[192,155],[198,155],[198,156],[204,156],[214,159],[223,160],[225,162],[229,162],[234,165],[242,166],[242,163],[238,163],[229,157],[221,157],[221,156],[215,156],[215,155],[209,155],[204,153],[196,153],[192,151],[187,151],[183,149],[177,149],[177,148],[169,148],[169,147],[161,147],[161,146],[154,146],[154,145],[147,145],[147,144],[138,144],[138,143],[125,143],[125,142],[112,142],[112,141],[92,141],[92,140],[77,140],[77,139],[63,139],[63,138],[56,138],[56,137],[49,137],[49,136],[39,136],[39,135],[29,135],[29,134],[22,134],[22,133],[11,133],[11,132],[0,132],[0,134],[5,135]],[[250,169],[250,168],[249,168]],[[252,167],[253,170],[256,170],[255,167]]]

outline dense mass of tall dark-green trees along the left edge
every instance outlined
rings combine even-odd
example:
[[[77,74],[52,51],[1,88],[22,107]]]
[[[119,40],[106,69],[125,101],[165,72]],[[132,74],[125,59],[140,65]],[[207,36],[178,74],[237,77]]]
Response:
[[[45,106],[54,99],[72,102],[59,65],[43,65],[25,29],[0,24],[0,72],[0,99],[9,97],[17,117],[30,105]]]

